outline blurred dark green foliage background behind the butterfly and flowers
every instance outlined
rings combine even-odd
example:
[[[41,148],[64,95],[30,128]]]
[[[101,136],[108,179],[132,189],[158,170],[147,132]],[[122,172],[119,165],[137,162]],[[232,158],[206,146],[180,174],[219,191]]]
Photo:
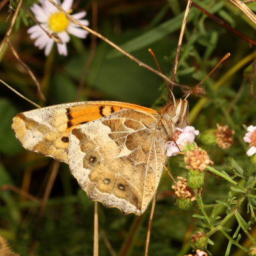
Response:
[[[33,3],[36,2],[24,1],[26,8]],[[256,40],[255,24],[229,1],[196,0],[195,3]],[[93,4],[97,16],[92,12]],[[13,8],[16,6],[17,1],[13,1]],[[256,10],[256,3],[248,4],[248,7]],[[92,20],[97,20],[99,33],[156,68],[154,59],[148,53],[148,48],[151,48],[163,74],[172,75],[186,1],[74,1],[73,9],[74,13],[86,10],[86,19],[90,21],[91,28]],[[4,38],[12,19],[6,22],[7,17],[8,3],[0,12],[1,38]],[[40,106],[77,100],[118,100],[154,108],[166,103],[168,90],[161,77],[139,67],[99,39],[93,46],[90,35],[85,40],[71,36],[67,57],[59,56],[56,47],[45,57],[44,51],[35,47],[26,32],[33,24],[22,8],[10,41],[40,82],[46,101],[38,97],[35,83],[7,44],[0,52],[0,78]],[[200,132],[215,129],[217,123],[227,124],[236,132],[235,143],[229,150],[205,146],[198,140],[200,147],[209,152],[215,168],[226,170],[228,157],[234,157],[241,166],[250,169],[252,166],[245,154],[245,131],[242,125],[255,124],[255,99],[250,91],[255,45],[192,6],[180,52],[177,83],[195,86],[227,52],[231,53],[230,58],[204,82],[204,99],[189,96],[190,118]],[[77,96],[83,74],[86,74],[83,90]],[[177,98],[184,94],[177,87],[173,93]],[[1,84],[0,186],[13,185],[42,200],[54,160],[26,151],[11,129],[13,116],[34,108]],[[169,167],[175,176],[186,175],[182,156],[172,157]],[[149,255],[182,256],[191,252],[189,236],[196,228],[196,221],[191,216],[197,210],[185,212],[178,209],[174,204],[175,195],[171,186],[172,180],[163,172],[152,223]],[[224,180],[207,173],[202,191],[205,204],[222,200],[227,196],[228,189]],[[1,191],[0,204],[0,235],[6,237],[13,250],[20,255],[28,255],[31,244],[35,245],[34,255],[93,255],[94,204],[79,188],[67,164],[60,164],[40,225],[37,224],[38,202],[8,189]],[[240,213],[246,216],[246,207],[242,209],[244,212]],[[99,254],[143,255],[149,212],[150,207],[141,217],[134,214],[124,216],[118,209],[105,209],[99,204]],[[225,216],[225,211],[220,212],[220,216]],[[236,223],[230,221],[228,225],[236,229]],[[255,233],[255,227],[252,232]],[[217,233],[211,239],[215,243],[209,246],[212,255],[225,255],[225,237]],[[250,245],[246,237],[241,243]],[[244,254],[234,247],[230,255]]]

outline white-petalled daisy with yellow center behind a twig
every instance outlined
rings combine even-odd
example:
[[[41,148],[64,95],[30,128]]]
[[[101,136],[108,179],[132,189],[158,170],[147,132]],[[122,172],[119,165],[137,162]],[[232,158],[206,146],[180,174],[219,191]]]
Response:
[[[42,28],[44,28],[49,33],[57,35],[62,44],[57,44],[58,52],[60,55],[67,56],[67,42],[70,40],[68,34],[72,34],[79,38],[86,38],[88,31],[76,26],[71,23],[65,16],[64,13],[60,12],[53,4],[49,3],[47,0],[39,0],[41,6],[38,4],[33,4],[31,11],[34,13],[36,20],[40,23]],[[56,4],[60,5],[59,0],[54,0]],[[66,12],[72,12],[73,0],[64,0],[61,7]],[[72,17],[81,22],[84,26],[88,26],[88,20],[82,19],[86,15],[86,12],[79,12]],[[31,34],[30,38],[35,39],[35,45],[39,49],[44,49],[45,55],[49,55],[54,44],[54,40],[45,33],[45,31],[40,28],[40,26],[35,25],[28,29],[28,33]]]

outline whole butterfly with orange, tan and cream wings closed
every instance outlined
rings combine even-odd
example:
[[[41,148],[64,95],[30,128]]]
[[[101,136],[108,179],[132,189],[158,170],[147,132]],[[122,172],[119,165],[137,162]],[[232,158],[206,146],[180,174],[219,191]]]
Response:
[[[12,129],[27,150],[68,163],[91,200],[141,215],[159,184],[166,143],[187,122],[186,99],[159,111],[88,101],[19,113]]]

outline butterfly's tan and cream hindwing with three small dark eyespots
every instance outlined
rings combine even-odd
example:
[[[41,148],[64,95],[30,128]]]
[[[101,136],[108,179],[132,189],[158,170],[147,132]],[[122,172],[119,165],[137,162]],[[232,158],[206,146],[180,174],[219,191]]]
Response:
[[[72,130],[70,171],[92,200],[141,215],[159,184],[167,137],[157,113],[121,109]]]

